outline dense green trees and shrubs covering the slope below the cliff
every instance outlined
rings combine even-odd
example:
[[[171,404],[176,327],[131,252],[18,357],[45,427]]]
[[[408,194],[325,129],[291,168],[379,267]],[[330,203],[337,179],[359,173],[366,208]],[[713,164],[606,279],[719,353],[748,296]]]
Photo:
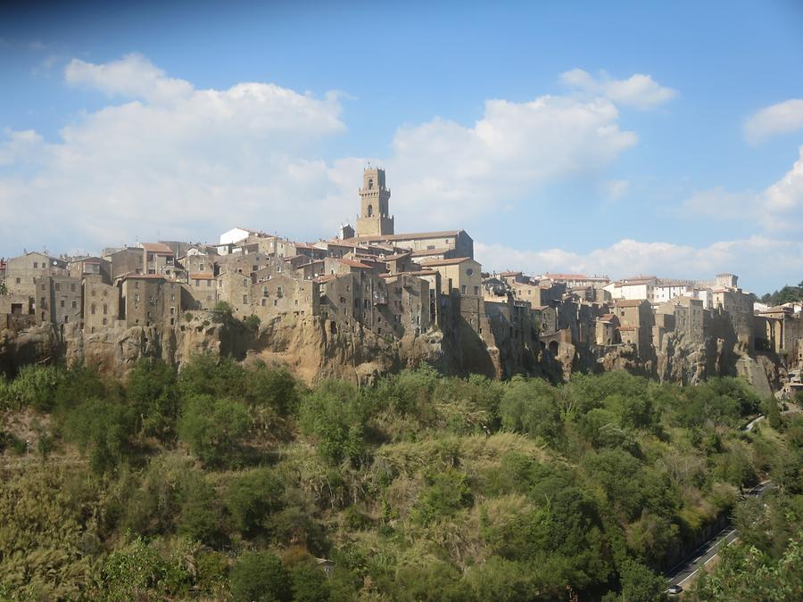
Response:
[[[799,599],[803,420],[731,378],[307,389],[200,356],[28,367],[0,411],[0,599],[654,600],[731,511],[694,595]]]

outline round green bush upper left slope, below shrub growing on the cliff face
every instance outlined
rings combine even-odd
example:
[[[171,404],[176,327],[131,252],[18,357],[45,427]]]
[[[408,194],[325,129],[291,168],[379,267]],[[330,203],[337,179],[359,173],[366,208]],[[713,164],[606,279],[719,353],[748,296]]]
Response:
[[[178,436],[208,466],[235,466],[251,425],[240,401],[198,395],[186,403],[178,421]]]

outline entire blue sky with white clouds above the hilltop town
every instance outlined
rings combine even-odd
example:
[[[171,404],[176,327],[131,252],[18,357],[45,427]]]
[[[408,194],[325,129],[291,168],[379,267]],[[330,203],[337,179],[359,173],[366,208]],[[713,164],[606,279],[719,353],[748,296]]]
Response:
[[[372,160],[488,268],[803,279],[803,3],[113,4],[0,8],[0,256],[315,240]]]

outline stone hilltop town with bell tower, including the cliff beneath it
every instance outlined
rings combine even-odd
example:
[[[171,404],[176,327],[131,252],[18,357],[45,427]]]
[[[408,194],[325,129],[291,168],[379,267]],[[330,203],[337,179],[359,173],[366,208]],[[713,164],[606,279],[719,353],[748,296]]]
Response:
[[[762,306],[733,274],[486,273],[464,230],[395,233],[383,169],[363,171],[359,195],[355,226],[314,243],[235,227],[217,243],[0,260],[0,368],[62,357],[124,372],[140,355],[180,364],[240,344],[223,340],[223,313],[255,327],[245,355],[310,380],[362,381],[425,360],[497,378],[627,369],[680,383],[744,375],[762,392],[800,387],[801,305]]]

